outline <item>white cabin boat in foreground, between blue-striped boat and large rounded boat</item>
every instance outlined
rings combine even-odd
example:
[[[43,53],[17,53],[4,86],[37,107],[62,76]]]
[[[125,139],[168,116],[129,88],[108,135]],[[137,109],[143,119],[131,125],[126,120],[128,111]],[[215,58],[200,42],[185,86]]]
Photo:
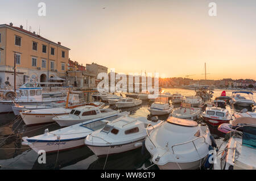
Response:
[[[148,121],[146,117],[121,117],[106,124],[103,129],[90,133],[85,145],[98,157],[138,149],[147,137],[147,132],[161,123],[163,121]],[[150,128],[147,129],[148,125]]]

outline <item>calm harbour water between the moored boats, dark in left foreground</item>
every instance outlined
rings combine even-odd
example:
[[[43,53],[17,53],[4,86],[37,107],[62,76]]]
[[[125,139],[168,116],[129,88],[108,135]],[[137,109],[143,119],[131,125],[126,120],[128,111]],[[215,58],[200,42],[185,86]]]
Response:
[[[195,95],[195,90],[185,89],[163,89],[172,94],[179,92],[184,96]],[[220,96],[222,90],[214,90],[214,96]],[[226,91],[230,96],[231,90]],[[255,99],[254,95],[254,100]],[[150,102],[143,101],[141,106],[123,109],[130,111],[133,117],[149,115],[147,108]],[[108,108],[109,106],[106,106]],[[112,108],[112,107],[110,107]],[[242,108],[228,107],[230,112],[236,112]],[[255,111],[255,110],[250,110]],[[168,116],[159,117],[167,119]],[[23,121],[11,122],[15,119],[13,114],[0,115],[0,169],[104,169],[106,158],[98,158],[86,146],[67,151],[61,151],[59,154],[47,154],[46,164],[38,163],[38,154],[27,146],[21,145],[22,137],[36,136],[42,134],[44,129],[49,131],[59,129],[57,124],[39,125],[35,127],[26,127]],[[218,131],[211,129],[214,137],[218,137]],[[7,139],[6,139],[7,138]],[[6,141],[5,141],[6,140]],[[5,142],[3,142],[5,141]],[[126,153],[110,155],[106,161],[105,169],[141,169],[150,166],[150,154],[141,149],[127,151]],[[150,169],[158,169],[153,166]]]

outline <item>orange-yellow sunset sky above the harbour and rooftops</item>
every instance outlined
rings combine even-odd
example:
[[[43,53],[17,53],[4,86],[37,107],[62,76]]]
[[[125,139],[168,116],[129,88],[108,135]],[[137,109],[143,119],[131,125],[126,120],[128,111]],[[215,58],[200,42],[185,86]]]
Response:
[[[38,3],[46,16],[38,16]],[[210,2],[217,16],[209,16]],[[255,0],[0,0],[0,24],[71,48],[69,58],[118,73],[160,77],[256,79]],[[105,7],[105,9],[104,9]]]

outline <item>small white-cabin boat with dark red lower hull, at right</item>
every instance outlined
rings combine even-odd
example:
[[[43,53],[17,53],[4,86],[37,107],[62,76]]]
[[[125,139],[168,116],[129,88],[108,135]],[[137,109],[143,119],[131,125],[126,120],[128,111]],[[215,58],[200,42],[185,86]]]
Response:
[[[229,123],[229,121],[232,120],[229,111],[220,107],[207,107],[201,115],[204,120],[212,126]]]

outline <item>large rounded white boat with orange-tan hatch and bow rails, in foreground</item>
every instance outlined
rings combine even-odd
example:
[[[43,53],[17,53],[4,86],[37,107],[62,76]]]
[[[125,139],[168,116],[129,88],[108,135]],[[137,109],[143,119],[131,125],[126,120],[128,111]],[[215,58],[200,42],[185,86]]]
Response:
[[[210,139],[206,124],[169,117],[148,133],[145,146],[159,169],[200,169],[208,157]]]

